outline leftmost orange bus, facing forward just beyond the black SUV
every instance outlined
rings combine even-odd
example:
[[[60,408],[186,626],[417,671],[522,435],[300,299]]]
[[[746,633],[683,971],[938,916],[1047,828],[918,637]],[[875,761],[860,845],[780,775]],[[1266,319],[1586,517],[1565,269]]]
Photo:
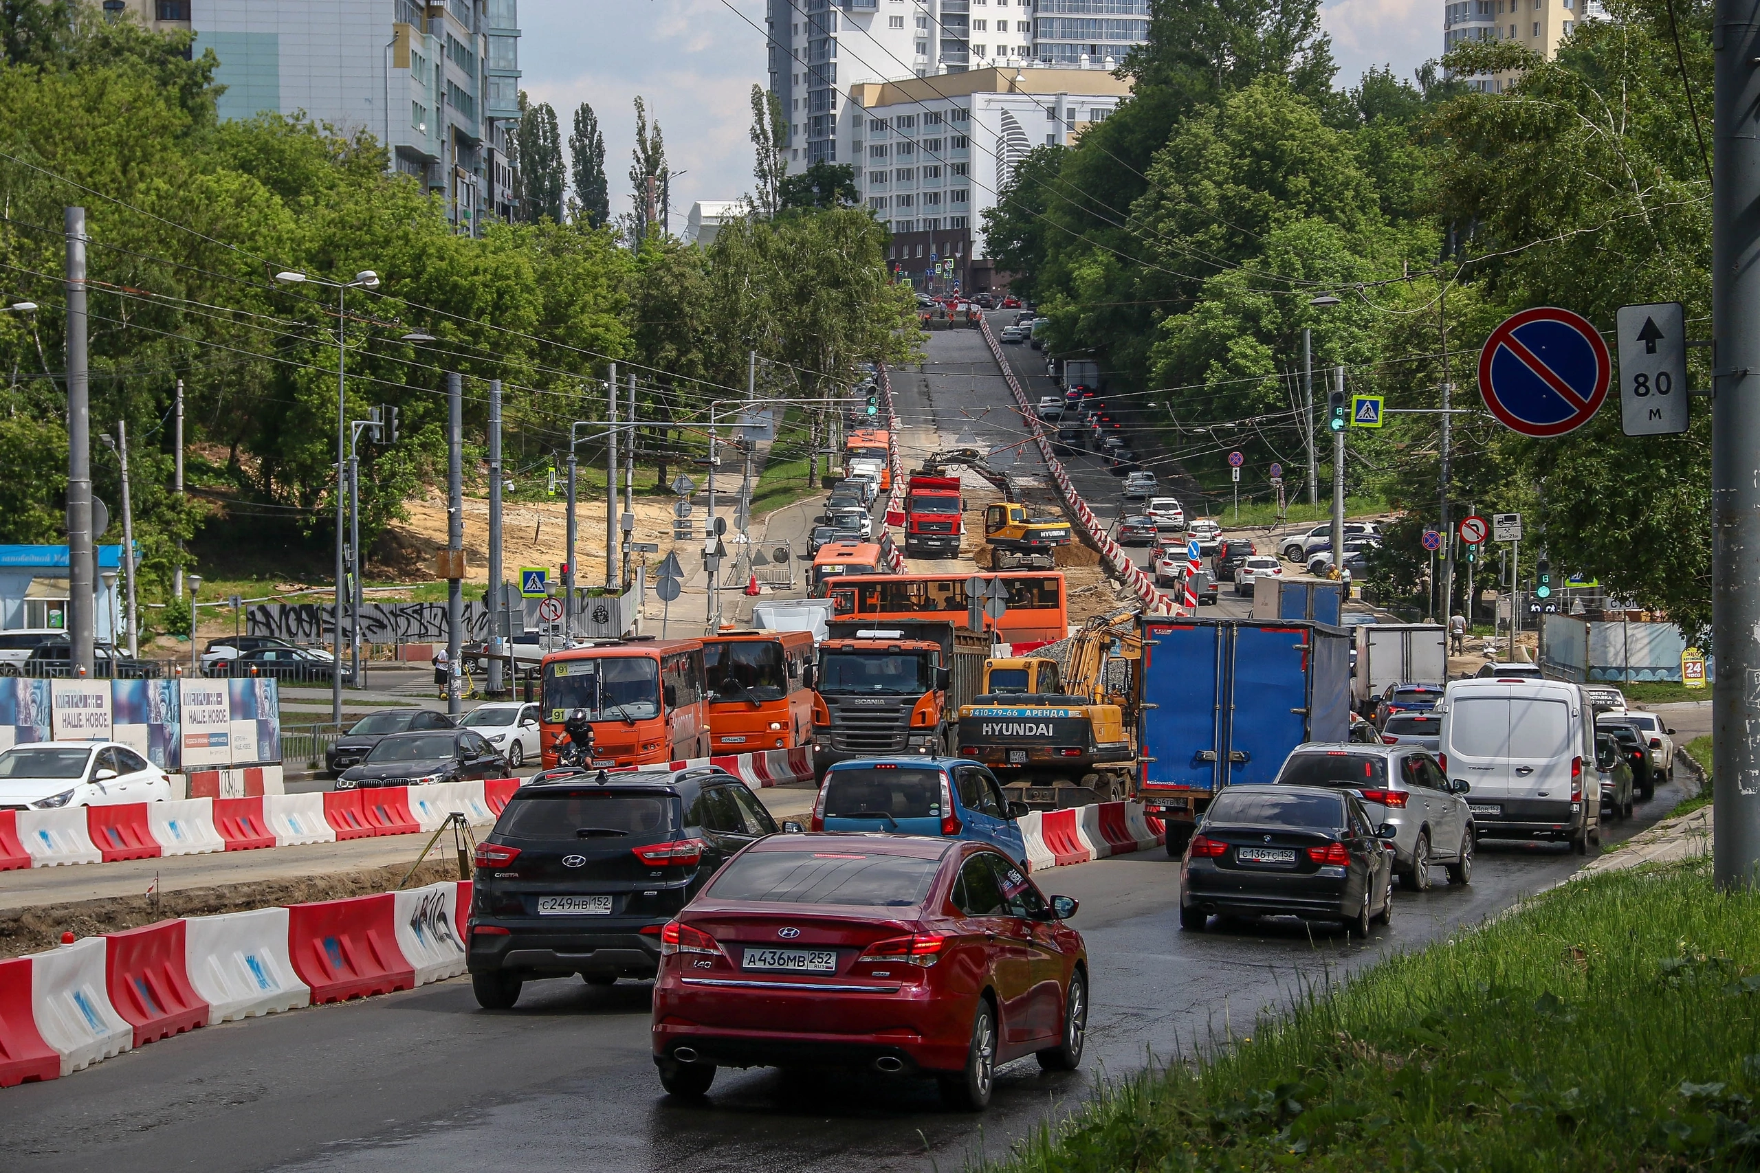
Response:
[[[570,709],[593,721],[593,765],[664,765],[709,753],[702,640],[604,640],[544,656],[540,744],[556,765]]]

